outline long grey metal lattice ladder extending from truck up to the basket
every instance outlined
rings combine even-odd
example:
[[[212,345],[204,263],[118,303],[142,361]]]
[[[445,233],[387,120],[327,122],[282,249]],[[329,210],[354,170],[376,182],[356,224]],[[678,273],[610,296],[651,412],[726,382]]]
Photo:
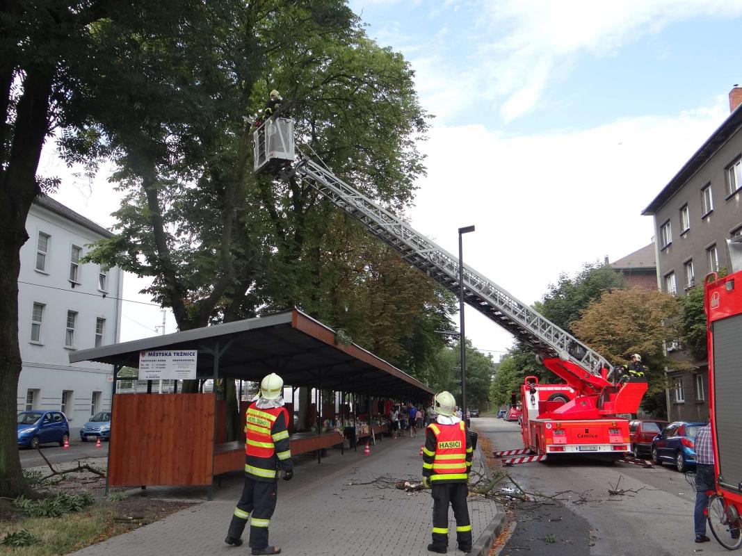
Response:
[[[302,156],[291,172],[358,219],[368,231],[398,251],[404,260],[424,271],[456,297],[459,296],[457,257],[309,157]],[[467,265],[463,268],[463,282],[465,302],[505,328],[541,357],[569,360],[594,377],[600,377],[600,368],[612,368],[605,357]]]

